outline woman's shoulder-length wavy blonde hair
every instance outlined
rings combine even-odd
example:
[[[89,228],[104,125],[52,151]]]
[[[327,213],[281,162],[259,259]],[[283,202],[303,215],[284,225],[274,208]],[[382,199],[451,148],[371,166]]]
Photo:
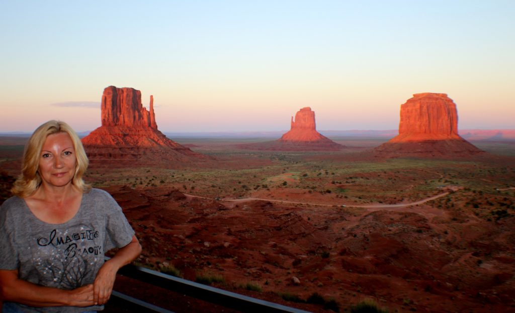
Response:
[[[82,192],[88,192],[91,189],[91,186],[85,184],[82,179],[82,175],[88,168],[89,161],[79,136],[77,136],[70,125],[61,121],[53,120],[39,126],[32,136],[30,136],[29,141],[25,145],[22,159],[22,173],[18,176],[11,189],[11,192],[14,195],[27,197],[36,192],[39,186],[41,186],[41,175],[38,172],[41,150],[43,149],[43,144],[45,143],[46,138],[49,135],[58,133],[66,133],[70,135],[75,149],[77,163],[72,184]]]

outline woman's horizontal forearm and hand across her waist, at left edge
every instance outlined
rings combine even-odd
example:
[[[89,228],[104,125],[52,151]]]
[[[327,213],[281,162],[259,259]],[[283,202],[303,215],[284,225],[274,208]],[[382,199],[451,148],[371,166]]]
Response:
[[[73,290],[43,287],[18,278],[18,270],[0,270],[0,301],[29,306],[91,306],[93,285]]]

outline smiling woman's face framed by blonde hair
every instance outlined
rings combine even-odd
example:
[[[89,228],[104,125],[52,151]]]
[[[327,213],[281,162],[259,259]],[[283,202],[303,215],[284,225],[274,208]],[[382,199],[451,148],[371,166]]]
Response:
[[[77,158],[70,135],[57,133],[46,137],[41,149],[38,172],[43,184],[66,186],[75,175]]]

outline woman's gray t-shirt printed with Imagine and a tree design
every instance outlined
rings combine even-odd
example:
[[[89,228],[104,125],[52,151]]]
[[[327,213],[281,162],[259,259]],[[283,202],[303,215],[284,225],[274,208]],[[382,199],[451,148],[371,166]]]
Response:
[[[19,278],[37,285],[75,289],[92,284],[104,253],[129,244],[134,230],[109,193],[82,195],[79,211],[62,224],[48,224],[17,196],[0,207],[0,269],[19,270]],[[103,306],[33,308],[28,312],[82,312]]]

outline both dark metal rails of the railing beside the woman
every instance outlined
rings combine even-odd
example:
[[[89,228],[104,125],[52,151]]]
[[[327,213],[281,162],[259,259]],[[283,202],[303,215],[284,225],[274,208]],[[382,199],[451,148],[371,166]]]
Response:
[[[163,274],[144,267],[127,265],[118,271],[118,274],[137,279],[154,286],[178,292],[192,298],[209,303],[218,304],[242,312],[270,312],[270,313],[308,313],[308,311],[252,298],[243,294],[202,285],[183,278]],[[141,300],[131,298],[125,294],[113,291],[111,298],[114,301],[130,302],[142,310],[150,312],[171,312]]]

